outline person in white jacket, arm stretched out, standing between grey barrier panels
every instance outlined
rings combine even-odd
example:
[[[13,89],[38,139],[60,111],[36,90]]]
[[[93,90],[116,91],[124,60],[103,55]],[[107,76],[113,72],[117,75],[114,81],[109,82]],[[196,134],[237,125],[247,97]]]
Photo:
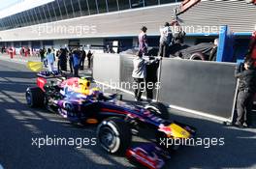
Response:
[[[138,52],[136,58],[133,60],[134,70],[133,70],[132,77],[134,78],[134,82],[136,86],[134,90],[135,100],[137,101],[142,100],[141,98],[144,91],[144,78],[146,74],[145,66],[155,63],[156,61],[158,61],[158,59],[146,61],[143,58],[143,52],[141,50]]]

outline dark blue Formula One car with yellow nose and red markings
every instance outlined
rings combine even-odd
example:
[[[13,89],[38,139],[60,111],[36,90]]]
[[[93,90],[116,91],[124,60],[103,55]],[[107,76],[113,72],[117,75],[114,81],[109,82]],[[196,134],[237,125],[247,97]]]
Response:
[[[98,143],[110,154],[124,154],[130,147],[133,133],[141,129],[155,133],[161,139],[186,139],[196,129],[169,120],[166,106],[160,102],[134,105],[117,99],[116,94],[106,95],[90,89],[86,78],[65,79],[57,74],[40,72],[37,87],[27,88],[26,100],[30,107],[46,106],[72,123],[99,124]]]

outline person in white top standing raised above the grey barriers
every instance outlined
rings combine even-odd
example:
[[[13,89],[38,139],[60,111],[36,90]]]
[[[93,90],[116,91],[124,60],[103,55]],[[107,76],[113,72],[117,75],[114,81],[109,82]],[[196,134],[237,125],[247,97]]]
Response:
[[[160,35],[158,55],[162,57],[168,57],[168,47],[173,37],[170,24],[168,22],[165,23],[163,28],[160,28]]]

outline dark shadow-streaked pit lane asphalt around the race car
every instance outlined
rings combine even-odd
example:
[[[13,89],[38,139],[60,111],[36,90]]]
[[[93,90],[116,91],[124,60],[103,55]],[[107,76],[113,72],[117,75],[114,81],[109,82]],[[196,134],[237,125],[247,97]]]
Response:
[[[44,109],[28,108],[24,93],[35,73],[24,65],[0,60],[0,164],[5,169],[132,168],[124,157],[107,155],[97,146],[38,149],[32,138],[93,138],[95,127],[74,127]],[[124,99],[132,99],[124,95]],[[198,128],[198,137],[224,137],[224,146],[179,149],[166,168],[256,168],[256,129],[223,127],[220,123],[171,109],[173,119]],[[139,138],[135,142],[141,142]]]

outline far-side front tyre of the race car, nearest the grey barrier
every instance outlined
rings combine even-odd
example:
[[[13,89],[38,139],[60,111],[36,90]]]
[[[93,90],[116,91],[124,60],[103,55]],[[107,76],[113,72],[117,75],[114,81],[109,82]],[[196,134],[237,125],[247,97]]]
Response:
[[[151,102],[144,106],[145,109],[152,112],[155,116],[164,120],[169,120],[169,112],[167,107],[161,102]]]

